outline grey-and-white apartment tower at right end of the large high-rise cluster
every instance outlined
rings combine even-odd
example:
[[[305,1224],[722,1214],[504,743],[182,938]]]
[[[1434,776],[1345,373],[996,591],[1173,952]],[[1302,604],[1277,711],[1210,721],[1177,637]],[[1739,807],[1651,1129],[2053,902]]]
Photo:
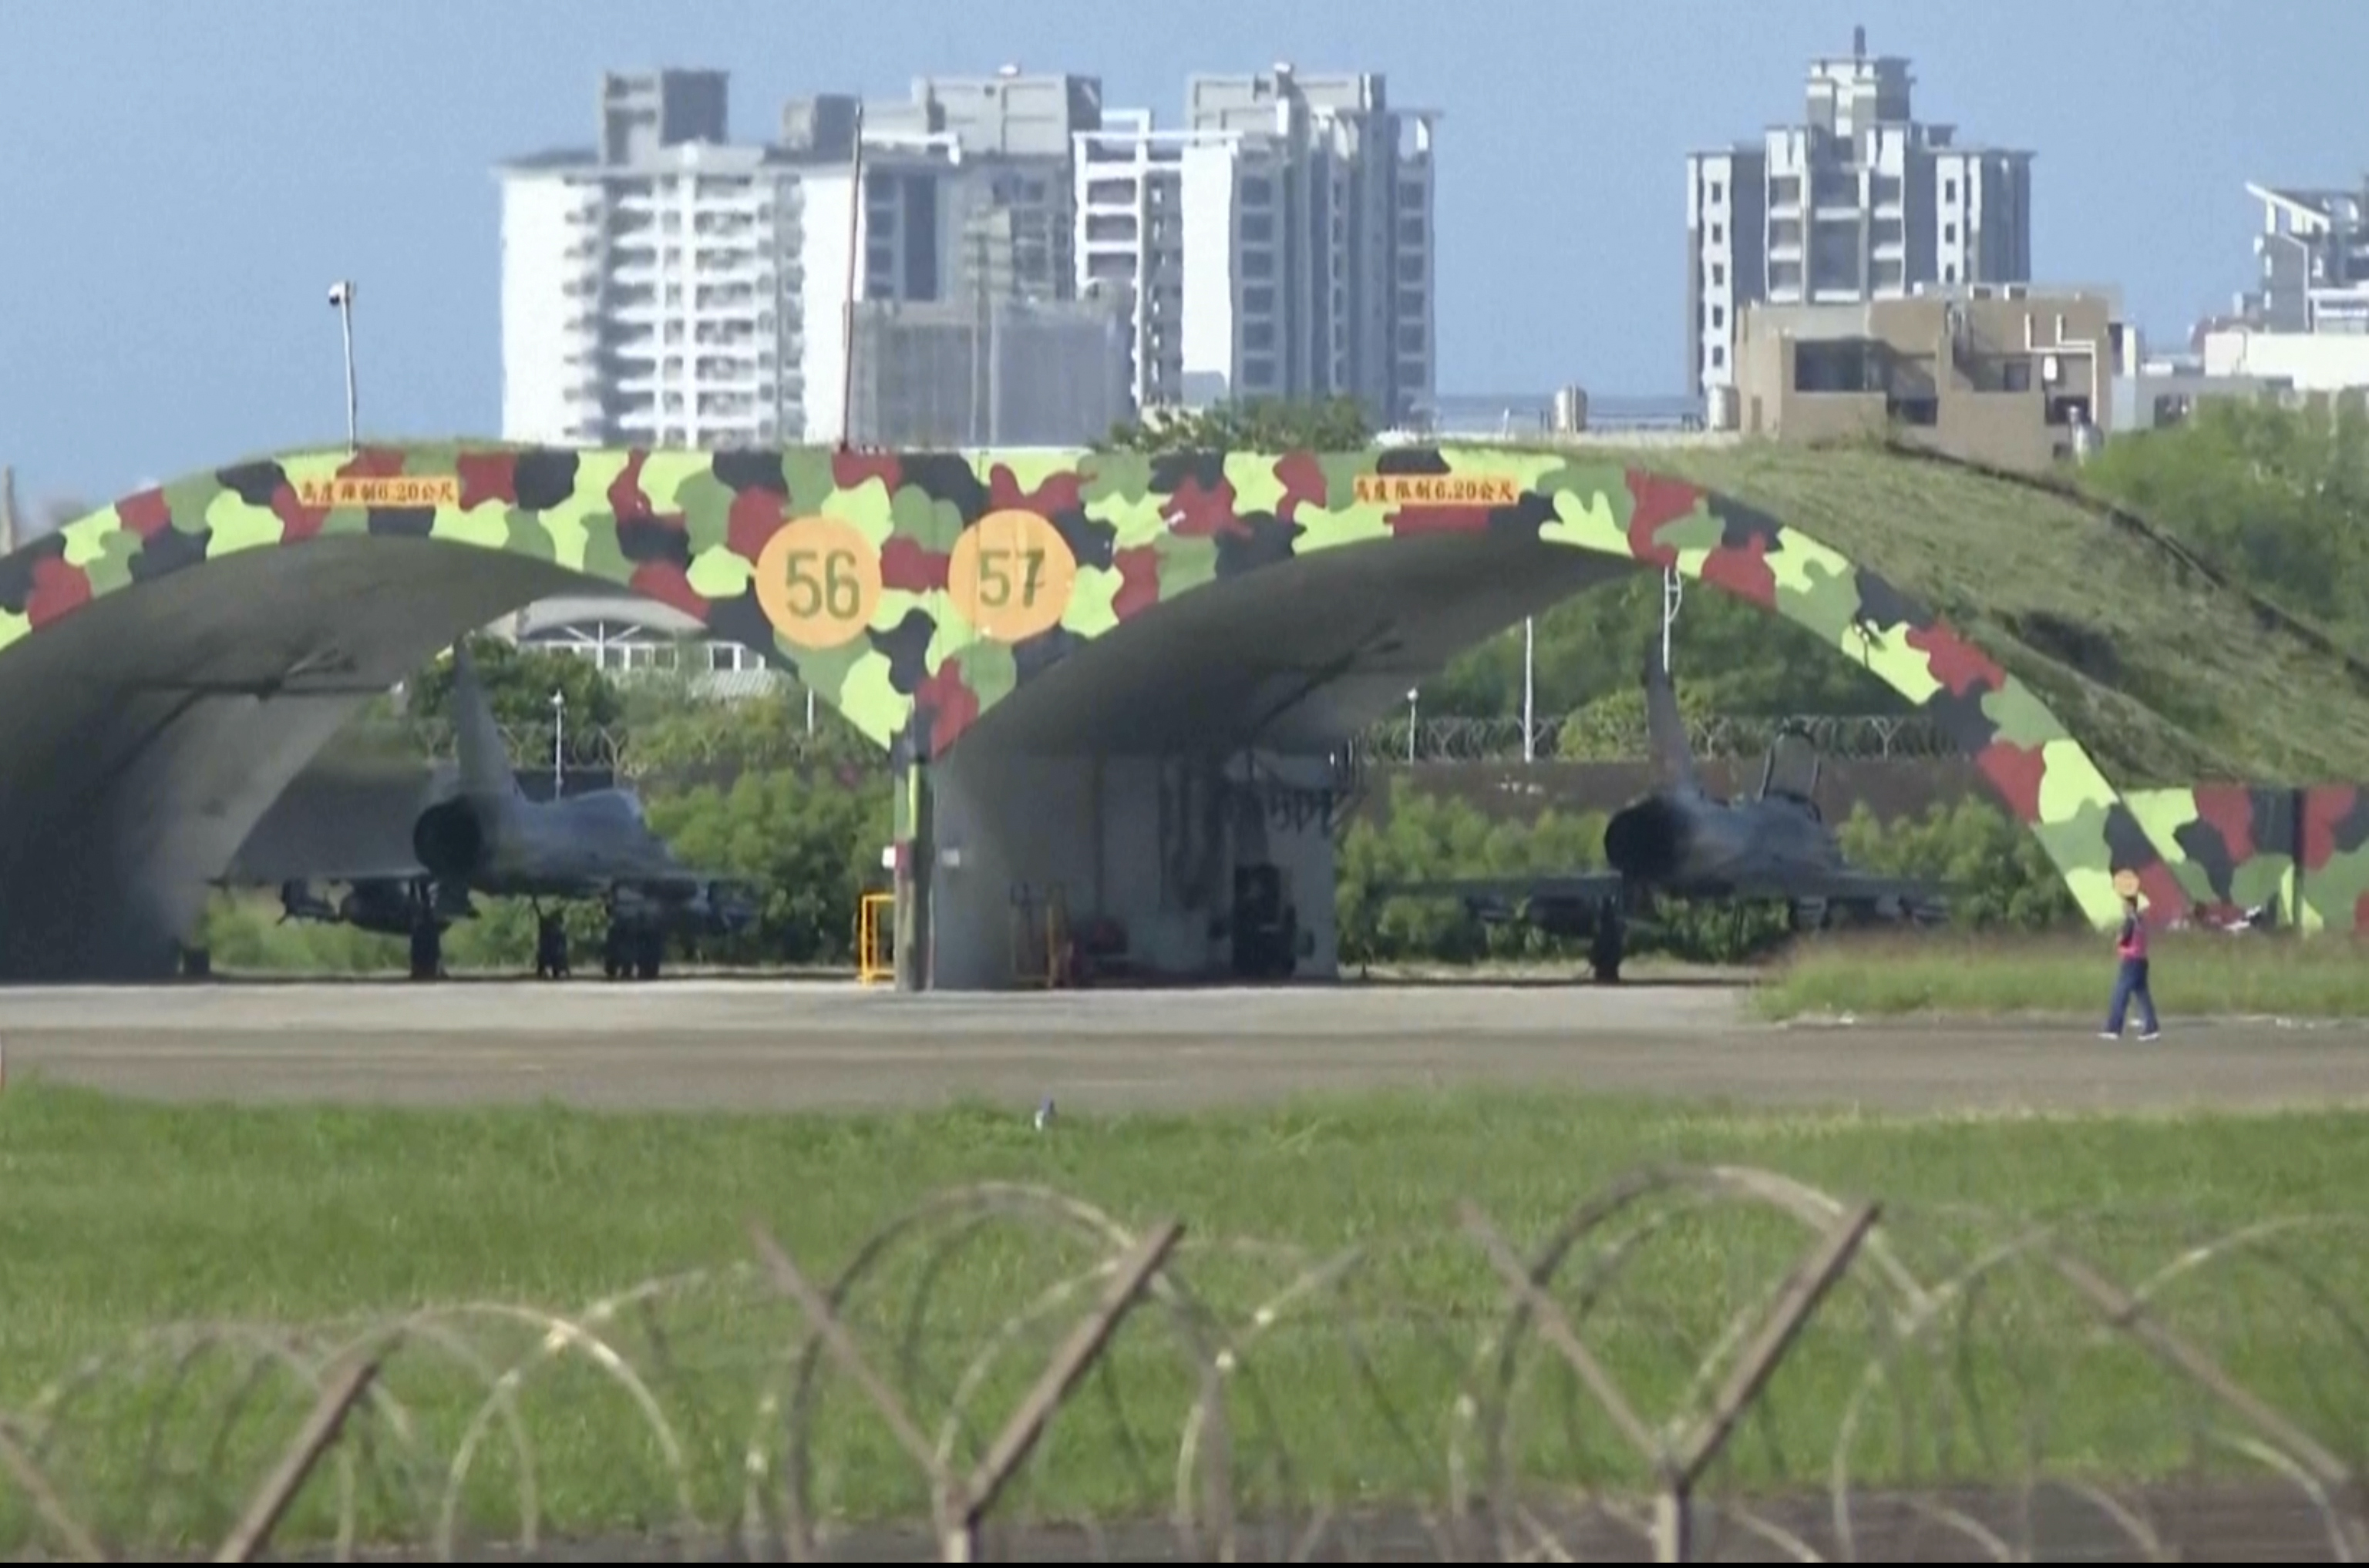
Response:
[[[1076,137],[1080,291],[1130,317],[1139,407],[1353,396],[1429,403],[1429,111],[1381,76],[1194,76],[1187,126],[1113,114]]]

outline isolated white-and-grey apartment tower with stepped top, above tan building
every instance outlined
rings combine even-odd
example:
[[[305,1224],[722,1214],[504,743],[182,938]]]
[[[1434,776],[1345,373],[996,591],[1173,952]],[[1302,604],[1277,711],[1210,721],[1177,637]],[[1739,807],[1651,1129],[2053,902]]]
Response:
[[[2030,282],[2033,154],[1959,147],[1909,114],[1909,62],[1810,62],[1803,121],[1687,154],[1687,379],[1734,386],[1755,301],[1900,298],[1919,284]]]

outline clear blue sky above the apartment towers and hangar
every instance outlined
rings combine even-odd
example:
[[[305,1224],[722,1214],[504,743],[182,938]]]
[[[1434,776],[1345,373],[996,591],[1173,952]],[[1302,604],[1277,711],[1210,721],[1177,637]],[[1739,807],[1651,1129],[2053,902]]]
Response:
[[[0,462],[109,500],[365,433],[500,422],[500,156],[590,142],[602,69],[784,97],[1087,71],[1173,123],[1189,71],[1374,69],[1440,126],[1443,391],[1684,388],[1682,156],[1798,114],[1812,54],[1909,54],[1917,114],[2037,149],[2035,270],[2161,341],[2251,272],[2248,178],[2350,185],[2362,0],[76,0],[0,47]],[[2345,126],[2355,130],[2348,135]]]

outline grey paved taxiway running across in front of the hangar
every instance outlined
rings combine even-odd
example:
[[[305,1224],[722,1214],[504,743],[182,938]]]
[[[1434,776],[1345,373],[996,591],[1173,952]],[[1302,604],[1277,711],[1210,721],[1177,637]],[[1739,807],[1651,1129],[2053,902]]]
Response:
[[[1076,1108],[1310,1090],[1556,1085],[1736,1104],[2369,1104],[2369,1028],[1751,1021],[1725,985],[900,997],[815,981],[0,990],[9,1073],[204,1099],[848,1108],[981,1094]]]

